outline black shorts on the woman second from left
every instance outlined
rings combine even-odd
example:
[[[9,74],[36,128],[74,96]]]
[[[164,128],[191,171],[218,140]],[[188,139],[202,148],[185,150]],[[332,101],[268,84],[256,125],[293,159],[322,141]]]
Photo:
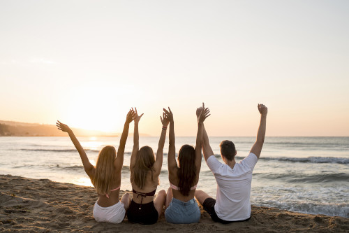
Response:
[[[127,211],[127,218],[131,223],[151,225],[158,221],[158,211],[155,209],[154,202],[142,204],[141,206],[132,200]]]

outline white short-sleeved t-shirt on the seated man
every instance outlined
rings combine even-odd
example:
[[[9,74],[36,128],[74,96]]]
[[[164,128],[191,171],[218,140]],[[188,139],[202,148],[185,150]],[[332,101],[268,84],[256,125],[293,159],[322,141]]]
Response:
[[[226,221],[246,220],[251,216],[252,171],[258,158],[250,153],[231,169],[216,157],[207,159],[207,166],[217,181],[217,197],[214,210],[218,218]]]

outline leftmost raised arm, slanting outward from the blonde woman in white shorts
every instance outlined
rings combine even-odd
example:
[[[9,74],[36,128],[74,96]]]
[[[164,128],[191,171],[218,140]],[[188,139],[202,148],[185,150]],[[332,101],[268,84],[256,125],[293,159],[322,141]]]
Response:
[[[84,170],[87,173],[89,177],[94,176],[94,166],[89,162],[89,158],[87,157],[84,148],[82,148],[80,142],[77,140],[76,136],[73,133],[73,130],[71,130],[68,125],[64,125],[59,120],[57,120],[56,125],[59,130],[63,132],[67,132],[70,140],[73,142],[77,152],[79,153],[81,157],[82,164],[84,165]]]

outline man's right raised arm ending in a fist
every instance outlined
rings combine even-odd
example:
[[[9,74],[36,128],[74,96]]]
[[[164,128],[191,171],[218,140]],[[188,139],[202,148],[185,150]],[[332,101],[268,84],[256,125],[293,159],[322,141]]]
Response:
[[[267,127],[267,113],[268,108],[263,104],[258,104],[258,111],[260,112],[260,127],[258,128],[257,139],[251,148],[251,153],[255,154],[258,159],[260,158],[260,152],[262,151],[265,129]]]

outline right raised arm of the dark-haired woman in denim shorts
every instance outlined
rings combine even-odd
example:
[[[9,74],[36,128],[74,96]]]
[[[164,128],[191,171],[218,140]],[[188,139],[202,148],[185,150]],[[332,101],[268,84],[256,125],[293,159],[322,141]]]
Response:
[[[202,103],[202,110],[200,111],[200,114],[198,114],[198,109],[196,110],[197,111],[196,114],[198,116],[198,133],[196,134],[196,145],[195,145],[195,167],[196,167],[197,174],[199,174],[200,172],[201,160],[202,160],[202,155],[201,155],[202,128],[204,126],[205,119],[210,115],[209,108],[205,108],[204,103]]]

